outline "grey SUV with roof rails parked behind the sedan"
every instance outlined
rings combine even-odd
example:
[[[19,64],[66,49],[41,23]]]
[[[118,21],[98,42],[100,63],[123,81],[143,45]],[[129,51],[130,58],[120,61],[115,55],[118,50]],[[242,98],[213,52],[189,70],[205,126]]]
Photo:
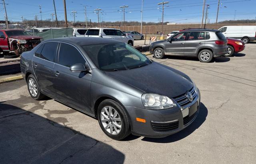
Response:
[[[219,30],[185,30],[167,40],[151,43],[150,53],[156,59],[162,59],[164,55],[195,56],[201,62],[208,63],[213,57],[226,55],[228,45]]]

